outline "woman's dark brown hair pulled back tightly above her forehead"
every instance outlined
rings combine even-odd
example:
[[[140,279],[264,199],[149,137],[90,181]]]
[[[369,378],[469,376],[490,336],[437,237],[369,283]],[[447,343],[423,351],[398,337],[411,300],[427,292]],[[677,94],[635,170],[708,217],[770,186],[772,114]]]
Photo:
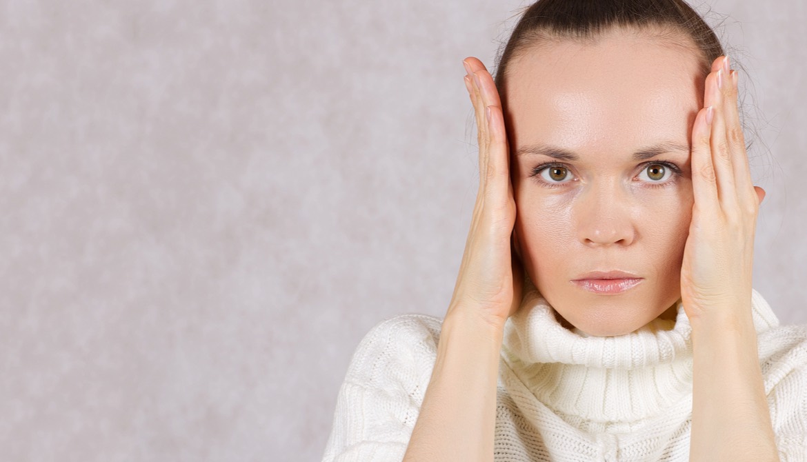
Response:
[[[508,64],[529,48],[559,40],[596,41],[613,27],[651,31],[653,36],[699,52],[706,77],[723,47],[712,27],[683,0],[538,0],[527,7],[504,46],[495,71],[504,94]]]

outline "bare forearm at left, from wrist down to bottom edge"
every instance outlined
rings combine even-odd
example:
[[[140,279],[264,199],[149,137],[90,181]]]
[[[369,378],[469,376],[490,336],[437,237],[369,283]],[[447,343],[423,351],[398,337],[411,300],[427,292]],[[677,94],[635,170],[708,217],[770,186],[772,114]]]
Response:
[[[504,326],[465,314],[446,316],[404,461],[493,460],[503,335]]]

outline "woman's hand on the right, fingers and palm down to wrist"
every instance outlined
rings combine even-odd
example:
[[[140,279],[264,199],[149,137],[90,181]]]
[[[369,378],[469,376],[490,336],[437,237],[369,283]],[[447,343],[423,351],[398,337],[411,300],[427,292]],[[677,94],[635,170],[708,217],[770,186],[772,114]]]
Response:
[[[751,268],[759,205],[751,184],[738,114],[737,71],[712,63],[704,109],[692,127],[692,223],[681,266],[681,298],[690,320],[751,319]]]

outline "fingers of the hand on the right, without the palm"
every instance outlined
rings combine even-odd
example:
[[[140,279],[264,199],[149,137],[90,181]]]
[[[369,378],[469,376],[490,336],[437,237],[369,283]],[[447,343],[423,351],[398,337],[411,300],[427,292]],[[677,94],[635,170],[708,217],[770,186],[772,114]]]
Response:
[[[696,206],[738,218],[759,207],[738,111],[738,74],[728,57],[714,60],[704,106],[692,129],[692,181]],[[711,124],[707,123],[709,106]],[[708,136],[708,138],[705,138]],[[708,139],[708,144],[705,140]]]

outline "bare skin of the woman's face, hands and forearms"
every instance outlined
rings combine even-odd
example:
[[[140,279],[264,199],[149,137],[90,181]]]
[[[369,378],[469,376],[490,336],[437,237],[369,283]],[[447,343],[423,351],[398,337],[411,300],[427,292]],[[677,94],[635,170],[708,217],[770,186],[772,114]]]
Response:
[[[504,324],[523,292],[519,252],[547,300],[593,335],[640,327],[679,296],[694,356],[689,460],[779,460],[751,317],[754,234],[765,192],[751,184],[738,75],[720,56],[703,81],[694,52],[636,36],[525,53],[511,63],[506,113],[482,62],[463,61],[478,127],[479,192],[404,460],[491,459]],[[562,46],[571,48],[553,55]],[[691,152],[663,153],[682,164],[683,176],[646,189],[649,174],[639,177],[642,168],[629,153],[659,137],[686,139]],[[577,152],[569,169],[579,181],[542,189],[525,177],[540,160],[515,156],[511,164],[511,153],[539,139]],[[648,289],[594,300],[567,290],[579,272],[615,268],[604,264],[632,264],[617,269],[641,272]],[[575,303],[564,302],[564,294]]]

